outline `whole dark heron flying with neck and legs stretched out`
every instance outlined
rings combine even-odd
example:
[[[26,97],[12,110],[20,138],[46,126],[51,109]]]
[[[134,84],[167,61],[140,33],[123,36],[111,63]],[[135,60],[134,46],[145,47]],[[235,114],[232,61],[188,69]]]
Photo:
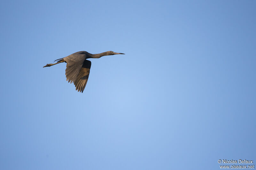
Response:
[[[66,78],[68,83],[74,82],[76,86],[76,90],[78,92],[83,92],[85,85],[87,83],[91,61],[86,60],[87,58],[100,58],[105,55],[115,55],[115,54],[124,54],[124,53],[115,53],[113,51],[107,51],[100,54],[91,54],[86,51],[79,51],[74,54],[68,55],[67,57],[57,59],[57,63],[54,64],[46,64],[44,67],[50,67],[59,63],[67,63],[66,68]],[[54,62],[55,62],[54,61]]]

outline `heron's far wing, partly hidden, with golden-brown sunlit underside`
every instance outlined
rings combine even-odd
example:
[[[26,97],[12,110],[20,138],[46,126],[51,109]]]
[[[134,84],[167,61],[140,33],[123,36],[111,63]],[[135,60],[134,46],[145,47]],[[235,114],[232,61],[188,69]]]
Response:
[[[81,70],[79,71],[76,80],[74,81],[74,85],[76,86],[76,90],[78,92],[83,92],[85,85],[87,83],[89,74],[90,74],[90,68],[91,68],[91,61],[84,60],[83,66]]]

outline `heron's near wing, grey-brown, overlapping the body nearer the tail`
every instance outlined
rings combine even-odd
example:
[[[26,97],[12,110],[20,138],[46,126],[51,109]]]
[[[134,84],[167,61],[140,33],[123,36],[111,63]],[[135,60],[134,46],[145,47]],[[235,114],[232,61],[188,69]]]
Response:
[[[67,63],[66,78],[68,83],[75,82],[76,77],[83,66],[85,58],[86,54],[81,54],[80,52],[76,52],[63,58],[63,60]]]

